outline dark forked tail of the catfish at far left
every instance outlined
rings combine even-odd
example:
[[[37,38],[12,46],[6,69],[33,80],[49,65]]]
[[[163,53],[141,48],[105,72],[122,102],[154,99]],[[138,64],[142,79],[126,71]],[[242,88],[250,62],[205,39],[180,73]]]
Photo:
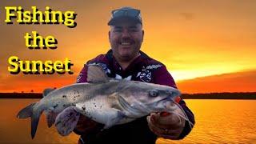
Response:
[[[29,106],[26,106],[22,110],[20,110],[17,114],[17,118],[31,118],[31,138],[34,138],[34,135],[38,128],[38,121],[40,118],[40,115],[42,114],[42,111],[33,110],[33,107],[35,106],[35,103],[30,104]]]

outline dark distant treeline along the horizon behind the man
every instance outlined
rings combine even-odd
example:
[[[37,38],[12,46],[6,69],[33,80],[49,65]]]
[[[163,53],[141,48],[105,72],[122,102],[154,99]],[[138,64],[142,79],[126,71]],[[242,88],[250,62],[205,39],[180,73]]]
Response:
[[[42,98],[42,93],[0,93],[0,98]],[[256,92],[182,94],[184,99],[256,99]]]

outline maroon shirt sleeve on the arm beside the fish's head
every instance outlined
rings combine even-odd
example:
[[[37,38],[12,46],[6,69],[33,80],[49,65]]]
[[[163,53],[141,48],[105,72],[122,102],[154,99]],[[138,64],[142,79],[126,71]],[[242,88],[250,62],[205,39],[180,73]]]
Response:
[[[171,86],[171,87],[178,89],[178,87],[176,86],[176,83],[174,82],[174,78],[170,75],[170,73],[166,69],[166,66],[161,66],[158,68],[158,70],[154,71],[154,83],[160,84],[160,85],[165,85],[165,86]],[[182,106],[182,109],[184,110],[188,119],[190,120],[190,122],[193,123],[193,126],[194,126],[194,123],[195,123],[194,114],[186,106],[186,102],[183,99],[181,99],[181,101],[178,102],[178,104],[180,106]],[[191,127],[190,126],[191,125],[189,124],[189,122],[186,121],[185,127],[182,130],[182,134],[179,135],[178,139],[185,138],[185,136],[190,133],[190,131],[193,128],[193,126],[191,126]]]

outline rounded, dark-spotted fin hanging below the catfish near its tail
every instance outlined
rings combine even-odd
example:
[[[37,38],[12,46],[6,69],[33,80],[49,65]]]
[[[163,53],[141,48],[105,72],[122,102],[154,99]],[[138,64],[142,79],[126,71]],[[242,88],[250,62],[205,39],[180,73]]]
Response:
[[[66,136],[70,134],[74,127],[77,126],[80,113],[77,112],[75,106],[67,107],[60,114],[58,114],[55,126],[58,130],[58,134]]]

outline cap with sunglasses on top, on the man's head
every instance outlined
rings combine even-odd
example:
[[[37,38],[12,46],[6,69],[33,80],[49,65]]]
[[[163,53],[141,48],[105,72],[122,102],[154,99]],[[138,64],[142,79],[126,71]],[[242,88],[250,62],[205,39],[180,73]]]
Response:
[[[123,18],[142,24],[141,10],[132,7],[122,7],[117,10],[112,10],[111,14],[110,22],[107,23],[108,26],[113,26]]]

